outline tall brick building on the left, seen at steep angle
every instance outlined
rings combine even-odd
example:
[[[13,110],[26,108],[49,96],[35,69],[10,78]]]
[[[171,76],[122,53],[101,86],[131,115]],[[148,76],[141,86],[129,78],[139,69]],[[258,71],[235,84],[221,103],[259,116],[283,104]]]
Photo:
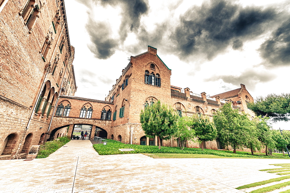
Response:
[[[77,90],[64,1],[0,1],[0,47],[0,159],[24,158]]]

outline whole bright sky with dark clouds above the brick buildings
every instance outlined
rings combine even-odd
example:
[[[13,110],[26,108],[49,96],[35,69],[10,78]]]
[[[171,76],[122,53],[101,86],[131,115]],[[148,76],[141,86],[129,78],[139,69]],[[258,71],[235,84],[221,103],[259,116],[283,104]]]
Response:
[[[275,3],[274,3],[275,2]],[[289,1],[67,0],[78,86],[104,100],[131,55],[157,48],[171,85],[194,93],[290,92]],[[290,130],[290,123],[274,127]],[[287,127],[287,128],[286,128]]]

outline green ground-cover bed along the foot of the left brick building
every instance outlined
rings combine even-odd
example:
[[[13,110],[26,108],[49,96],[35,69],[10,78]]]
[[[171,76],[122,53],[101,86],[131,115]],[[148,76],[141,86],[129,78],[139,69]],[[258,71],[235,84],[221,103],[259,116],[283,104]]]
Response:
[[[70,141],[67,136],[60,137],[59,140],[53,140],[51,142],[45,142],[43,146],[40,147],[39,153],[36,158],[48,157],[53,152],[57,151],[61,146]]]

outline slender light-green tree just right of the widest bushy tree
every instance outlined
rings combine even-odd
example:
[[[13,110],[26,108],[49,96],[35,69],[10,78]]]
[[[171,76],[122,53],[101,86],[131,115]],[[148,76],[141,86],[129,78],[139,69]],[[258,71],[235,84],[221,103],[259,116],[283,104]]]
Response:
[[[269,117],[262,118],[262,116],[256,117],[254,120],[258,131],[258,139],[266,147],[266,155],[268,155],[267,148],[276,147],[276,142],[273,140],[273,134],[270,130],[271,125],[269,125],[267,120],[269,120]]]

